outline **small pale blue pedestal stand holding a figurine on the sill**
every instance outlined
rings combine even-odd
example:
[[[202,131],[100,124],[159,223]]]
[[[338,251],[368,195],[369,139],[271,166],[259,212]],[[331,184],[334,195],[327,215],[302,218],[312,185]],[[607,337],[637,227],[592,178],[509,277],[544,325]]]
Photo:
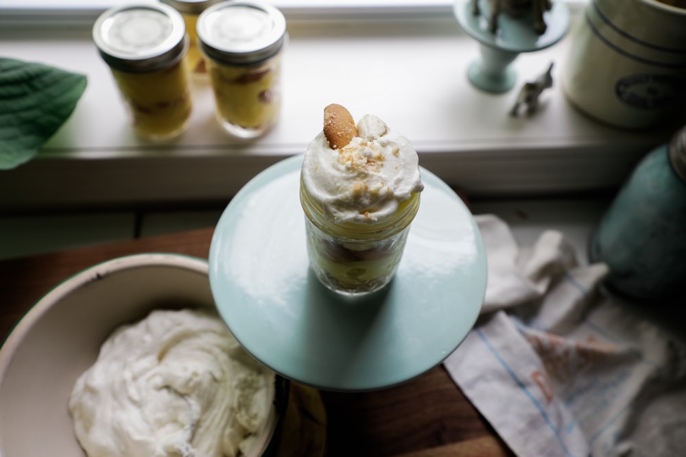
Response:
[[[488,30],[488,0],[477,0],[481,10],[478,16],[473,14],[473,1],[458,0],[454,13],[462,29],[479,42],[481,57],[469,65],[467,77],[471,84],[486,92],[510,90],[517,81],[517,73],[512,69],[517,56],[554,45],[569,29],[567,5],[554,1],[552,9],[543,14],[547,24],[543,34],[534,30],[532,9],[518,18],[500,14],[499,29],[493,34]]]

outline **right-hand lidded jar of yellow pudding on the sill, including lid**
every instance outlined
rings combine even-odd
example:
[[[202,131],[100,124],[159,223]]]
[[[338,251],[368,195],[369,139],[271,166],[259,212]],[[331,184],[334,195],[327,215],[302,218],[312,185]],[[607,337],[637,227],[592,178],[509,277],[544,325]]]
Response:
[[[217,119],[239,138],[257,138],[281,111],[281,51],[286,21],[271,5],[223,1],[198,18]]]

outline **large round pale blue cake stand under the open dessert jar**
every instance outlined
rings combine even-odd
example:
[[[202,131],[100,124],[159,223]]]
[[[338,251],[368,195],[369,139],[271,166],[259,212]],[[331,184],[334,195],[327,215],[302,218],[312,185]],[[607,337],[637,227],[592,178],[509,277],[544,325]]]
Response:
[[[335,294],[309,269],[303,155],[252,178],[224,210],[209,254],[217,310],[233,336],[284,378],[333,391],[399,384],[440,364],[474,325],[486,251],[460,197],[421,169],[421,204],[386,289]]]

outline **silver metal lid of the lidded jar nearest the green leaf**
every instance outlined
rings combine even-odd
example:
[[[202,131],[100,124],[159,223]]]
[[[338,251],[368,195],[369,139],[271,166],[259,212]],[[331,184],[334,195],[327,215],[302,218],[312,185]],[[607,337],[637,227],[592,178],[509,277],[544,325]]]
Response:
[[[93,40],[110,67],[132,73],[165,69],[188,47],[183,16],[162,3],[107,10],[93,25]]]

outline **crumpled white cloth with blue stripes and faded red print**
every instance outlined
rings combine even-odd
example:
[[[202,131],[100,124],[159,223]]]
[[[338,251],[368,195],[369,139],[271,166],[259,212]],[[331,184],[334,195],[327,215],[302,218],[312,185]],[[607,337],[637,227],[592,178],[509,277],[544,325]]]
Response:
[[[480,319],[444,362],[520,457],[686,452],[686,344],[599,293],[604,264],[579,267],[565,236],[519,247],[476,217],[488,258]]]

